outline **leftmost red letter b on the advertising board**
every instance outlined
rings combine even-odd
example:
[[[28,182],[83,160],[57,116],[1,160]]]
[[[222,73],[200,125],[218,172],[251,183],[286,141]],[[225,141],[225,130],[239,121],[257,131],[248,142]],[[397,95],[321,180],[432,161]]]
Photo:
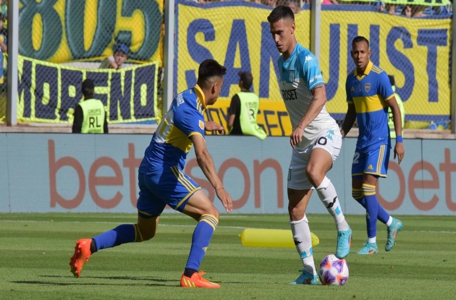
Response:
[[[83,201],[85,194],[85,176],[84,170],[81,164],[72,157],[62,157],[56,160],[55,156],[55,143],[54,140],[47,141],[48,153],[49,153],[49,182],[50,182],[50,196],[51,196],[51,207],[55,207],[58,203],[63,208],[76,208]],[[78,193],[73,199],[65,199],[57,192],[57,179],[56,175],[60,168],[63,166],[73,167],[78,173],[79,188]]]

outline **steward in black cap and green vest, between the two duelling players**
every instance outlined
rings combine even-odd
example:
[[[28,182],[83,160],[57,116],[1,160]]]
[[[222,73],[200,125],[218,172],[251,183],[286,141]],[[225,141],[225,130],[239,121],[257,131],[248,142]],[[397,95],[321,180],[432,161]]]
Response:
[[[253,77],[248,71],[239,72],[239,87],[241,92],[231,98],[228,108],[228,134],[230,135],[251,135],[264,140],[266,132],[258,126],[256,117],[259,108],[259,97],[249,92],[252,86]]]

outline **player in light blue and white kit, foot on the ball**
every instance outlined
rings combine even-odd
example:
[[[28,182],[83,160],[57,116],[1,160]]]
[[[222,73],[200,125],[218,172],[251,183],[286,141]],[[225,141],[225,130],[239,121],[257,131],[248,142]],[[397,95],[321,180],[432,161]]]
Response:
[[[268,21],[275,46],[282,53],[278,60],[280,89],[293,127],[287,183],[288,212],[296,250],[304,268],[290,284],[316,285],[318,275],[306,217],[313,189],[336,223],[336,256],[342,259],[350,252],[352,230],[342,213],[336,189],[326,177],[340,153],[342,136],[336,121],[326,111],[326,89],[318,61],[311,51],[296,41],[293,11],[284,5],[277,6]]]

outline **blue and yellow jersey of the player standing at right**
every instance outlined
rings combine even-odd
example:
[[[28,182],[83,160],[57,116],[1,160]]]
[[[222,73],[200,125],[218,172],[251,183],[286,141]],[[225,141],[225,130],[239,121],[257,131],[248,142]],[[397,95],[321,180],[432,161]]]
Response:
[[[359,136],[356,147],[368,150],[390,144],[388,103],[394,97],[388,75],[369,61],[364,74],[356,69],[347,76],[345,83],[347,102],[354,103]]]

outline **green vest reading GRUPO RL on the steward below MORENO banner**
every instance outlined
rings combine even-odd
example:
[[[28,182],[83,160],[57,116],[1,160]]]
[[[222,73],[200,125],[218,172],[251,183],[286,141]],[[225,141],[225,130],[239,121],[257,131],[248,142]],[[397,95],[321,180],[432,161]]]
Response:
[[[104,105],[101,100],[87,99],[79,103],[83,109],[81,133],[104,133]]]

